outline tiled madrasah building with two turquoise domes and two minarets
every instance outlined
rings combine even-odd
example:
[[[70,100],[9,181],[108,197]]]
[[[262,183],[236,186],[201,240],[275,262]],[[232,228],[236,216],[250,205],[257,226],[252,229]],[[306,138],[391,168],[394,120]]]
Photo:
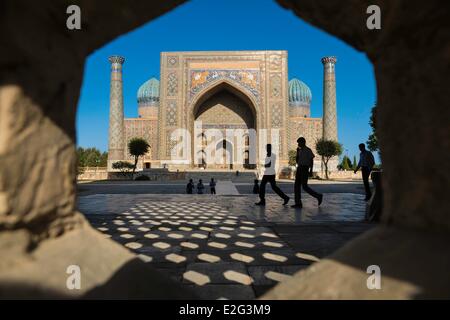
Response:
[[[132,160],[127,144],[134,137],[150,145],[138,169],[169,170],[256,169],[266,143],[272,143],[281,170],[298,137],[305,137],[314,153],[318,139],[337,141],[336,58],[321,60],[322,118],[311,118],[309,87],[297,78],[288,81],[287,59],[287,51],[162,52],[160,80],[151,78],[139,87],[138,118],[124,118],[125,59],[111,56],[108,170],[114,162]],[[209,129],[222,137],[211,139],[205,134]],[[179,151],[180,145],[187,148]],[[320,168],[316,154],[314,170]]]

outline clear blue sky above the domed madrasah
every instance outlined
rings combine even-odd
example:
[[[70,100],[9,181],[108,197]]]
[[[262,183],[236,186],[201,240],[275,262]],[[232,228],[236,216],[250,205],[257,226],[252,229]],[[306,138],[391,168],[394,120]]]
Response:
[[[193,0],[125,34],[89,56],[77,113],[77,144],[108,148],[108,56],[125,57],[125,117],[137,116],[136,91],[159,78],[161,51],[287,50],[289,79],[297,77],[312,91],[311,115],[322,116],[322,64],[337,57],[339,141],[348,155],[359,154],[371,129],[370,109],[376,101],[372,64],[341,40],[283,9],[271,0]],[[345,153],[345,152],[344,152]]]

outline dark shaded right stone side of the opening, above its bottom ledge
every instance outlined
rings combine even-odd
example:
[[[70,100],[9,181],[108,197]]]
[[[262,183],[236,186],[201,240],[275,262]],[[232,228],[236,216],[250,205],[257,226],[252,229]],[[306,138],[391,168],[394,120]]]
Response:
[[[278,0],[302,19],[365,51],[377,78],[384,222],[450,231],[450,23],[439,1]],[[381,30],[366,27],[378,4]],[[427,106],[424,108],[424,106]],[[440,156],[430,155],[439,152]]]

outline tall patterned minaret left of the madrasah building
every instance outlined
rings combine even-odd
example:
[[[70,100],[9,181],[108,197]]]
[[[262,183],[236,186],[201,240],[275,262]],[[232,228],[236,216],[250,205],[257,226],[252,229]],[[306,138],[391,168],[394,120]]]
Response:
[[[109,95],[108,170],[111,170],[113,162],[125,158],[122,95],[122,64],[125,62],[125,58],[111,56],[109,62],[111,62],[111,89]]]

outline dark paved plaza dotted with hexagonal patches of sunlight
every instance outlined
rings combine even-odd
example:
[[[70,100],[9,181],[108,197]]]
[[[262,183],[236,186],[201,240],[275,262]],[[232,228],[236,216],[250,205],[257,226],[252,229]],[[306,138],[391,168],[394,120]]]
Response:
[[[79,196],[78,209],[106,237],[199,298],[252,299],[368,230],[363,198],[326,193],[317,207],[304,196],[299,210],[274,194],[257,207],[249,194],[89,192]]]

